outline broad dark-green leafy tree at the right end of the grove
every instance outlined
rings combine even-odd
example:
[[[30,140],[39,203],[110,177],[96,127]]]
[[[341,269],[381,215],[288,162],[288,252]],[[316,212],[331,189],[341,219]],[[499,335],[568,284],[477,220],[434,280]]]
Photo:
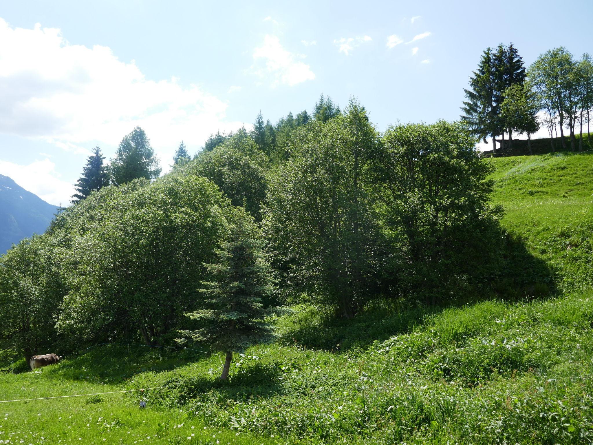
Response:
[[[434,304],[495,275],[502,241],[489,204],[490,164],[459,123],[397,125],[372,157],[391,293]]]

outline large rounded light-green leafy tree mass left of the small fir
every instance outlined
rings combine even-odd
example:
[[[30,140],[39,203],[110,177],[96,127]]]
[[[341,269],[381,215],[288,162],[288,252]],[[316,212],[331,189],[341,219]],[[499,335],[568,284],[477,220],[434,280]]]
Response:
[[[97,195],[106,202],[70,241],[58,329],[71,340],[129,338],[136,330],[146,344],[170,339],[226,230],[228,204],[204,178],[172,174],[130,185]]]

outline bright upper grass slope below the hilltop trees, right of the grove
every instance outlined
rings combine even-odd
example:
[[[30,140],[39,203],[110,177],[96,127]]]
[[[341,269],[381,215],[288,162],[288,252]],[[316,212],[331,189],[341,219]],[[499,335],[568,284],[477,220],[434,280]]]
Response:
[[[552,269],[559,290],[593,286],[593,151],[489,161],[503,225]]]

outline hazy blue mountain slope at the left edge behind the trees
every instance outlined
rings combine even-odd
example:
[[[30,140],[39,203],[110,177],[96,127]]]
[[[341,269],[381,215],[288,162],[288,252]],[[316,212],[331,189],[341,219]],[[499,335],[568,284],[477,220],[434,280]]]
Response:
[[[57,211],[55,205],[0,174],[0,255],[23,238],[43,233]]]

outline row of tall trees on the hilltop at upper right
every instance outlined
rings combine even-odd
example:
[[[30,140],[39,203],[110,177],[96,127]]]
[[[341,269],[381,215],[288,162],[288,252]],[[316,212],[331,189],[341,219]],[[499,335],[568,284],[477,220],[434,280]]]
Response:
[[[493,154],[497,154],[496,137],[505,133],[509,148],[512,134],[527,134],[531,154],[531,134],[545,125],[550,135],[551,150],[554,131],[560,128],[562,150],[568,150],[564,129],[569,130],[570,150],[576,150],[575,128],[578,123],[583,150],[582,130],[587,125],[589,142],[590,112],[593,107],[593,63],[585,53],[580,60],[564,47],[540,55],[525,68],[517,49],[511,43],[495,50],[484,50],[476,71],[470,76],[465,91],[461,120],[471,132],[486,142],[492,138]],[[590,144],[589,144],[590,145]]]

